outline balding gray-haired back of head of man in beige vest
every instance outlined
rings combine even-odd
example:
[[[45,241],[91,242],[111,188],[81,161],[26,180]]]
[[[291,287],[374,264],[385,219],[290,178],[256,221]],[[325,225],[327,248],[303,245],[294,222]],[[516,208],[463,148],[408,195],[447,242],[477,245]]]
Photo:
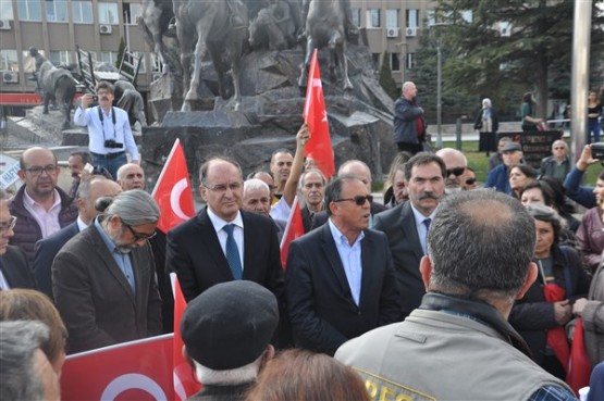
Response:
[[[461,191],[439,204],[428,235],[430,290],[513,301],[534,251],[534,222],[516,199]]]

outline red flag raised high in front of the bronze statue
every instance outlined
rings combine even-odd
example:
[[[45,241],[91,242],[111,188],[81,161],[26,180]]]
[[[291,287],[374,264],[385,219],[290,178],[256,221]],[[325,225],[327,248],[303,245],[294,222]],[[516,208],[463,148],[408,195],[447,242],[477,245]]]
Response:
[[[317,49],[312,52],[312,59],[310,60],[303,117],[310,131],[310,139],[306,143],[304,155],[313,159],[321,173],[326,179],[330,179],[335,173],[335,164],[333,162],[325,99],[321,86],[321,71],[317,61]]]

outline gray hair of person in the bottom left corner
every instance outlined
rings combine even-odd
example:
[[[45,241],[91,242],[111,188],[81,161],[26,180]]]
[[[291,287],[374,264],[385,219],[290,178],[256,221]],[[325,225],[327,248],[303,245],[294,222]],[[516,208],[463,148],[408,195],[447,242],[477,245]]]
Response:
[[[48,327],[38,321],[0,322],[0,399],[45,399],[35,352],[48,338]]]

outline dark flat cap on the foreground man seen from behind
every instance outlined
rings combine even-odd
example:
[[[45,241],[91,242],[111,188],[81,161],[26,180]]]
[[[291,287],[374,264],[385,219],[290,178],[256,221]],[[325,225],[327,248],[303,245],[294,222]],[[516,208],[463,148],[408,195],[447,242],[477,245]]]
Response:
[[[279,324],[276,298],[248,280],[218,284],[190,301],[181,336],[190,358],[214,371],[256,361]]]

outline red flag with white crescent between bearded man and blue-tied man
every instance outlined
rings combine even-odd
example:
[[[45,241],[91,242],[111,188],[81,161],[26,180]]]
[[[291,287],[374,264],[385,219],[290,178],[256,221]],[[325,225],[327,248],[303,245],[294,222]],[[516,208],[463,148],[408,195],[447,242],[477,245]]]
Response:
[[[180,139],[176,139],[168,155],[152,197],[161,210],[158,228],[163,233],[168,233],[195,214],[185,152]]]

